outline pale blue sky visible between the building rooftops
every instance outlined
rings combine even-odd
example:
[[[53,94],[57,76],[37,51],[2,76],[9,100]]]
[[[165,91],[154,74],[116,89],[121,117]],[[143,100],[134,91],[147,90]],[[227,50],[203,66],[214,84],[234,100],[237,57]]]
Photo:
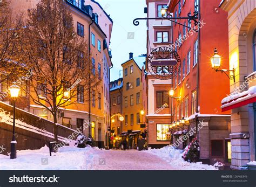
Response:
[[[97,0],[113,19],[110,49],[112,50],[111,81],[122,77],[122,66],[129,60],[129,53],[137,57],[146,53],[146,21],[141,20],[138,26],[133,19],[146,17],[145,0]]]

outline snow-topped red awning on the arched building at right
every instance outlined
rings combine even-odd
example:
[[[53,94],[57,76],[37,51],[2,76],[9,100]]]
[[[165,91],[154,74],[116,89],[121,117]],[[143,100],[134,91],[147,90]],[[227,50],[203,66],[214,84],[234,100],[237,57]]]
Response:
[[[225,112],[227,110],[242,107],[253,102],[256,102],[256,93],[248,93],[247,95],[243,95],[240,98],[232,99],[223,103],[223,105],[221,106],[221,111]]]

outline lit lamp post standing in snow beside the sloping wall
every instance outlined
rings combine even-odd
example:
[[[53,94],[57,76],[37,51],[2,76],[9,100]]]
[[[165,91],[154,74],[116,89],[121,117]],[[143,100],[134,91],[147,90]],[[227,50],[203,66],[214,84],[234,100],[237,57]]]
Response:
[[[11,159],[14,159],[17,157],[17,151],[16,151],[16,138],[15,138],[15,101],[16,98],[19,96],[20,88],[16,85],[16,82],[13,82],[13,85],[9,88],[11,93],[11,98],[14,99],[14,121],[12,125],[12,141],[11,141]]]

